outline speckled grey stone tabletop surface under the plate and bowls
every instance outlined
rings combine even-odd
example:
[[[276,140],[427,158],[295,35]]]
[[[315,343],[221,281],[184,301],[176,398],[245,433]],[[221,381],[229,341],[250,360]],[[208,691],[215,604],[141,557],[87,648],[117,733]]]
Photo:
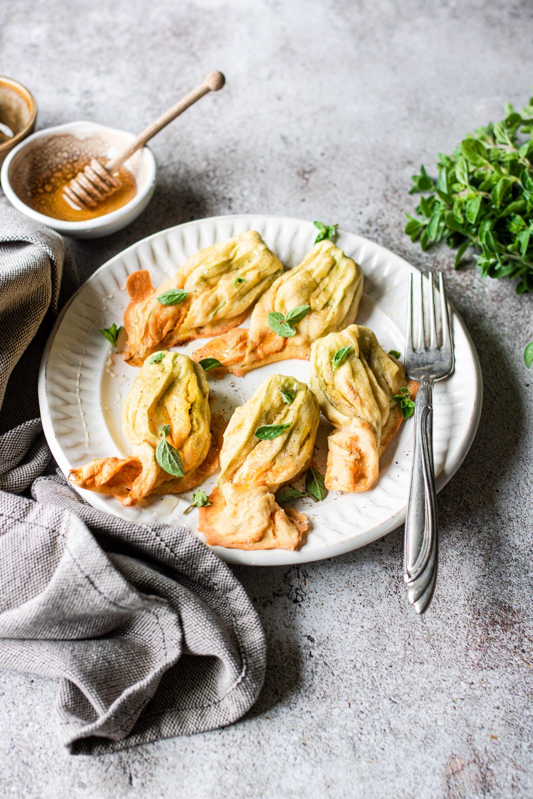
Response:
[[[423,618],[405,603],[402,531],[328,562],[240,568],[269,644],[257,707],[229,729],[107,757],[50,731],[54,682],[0,672],[0,795],[531,797],[533,296],[452,270],[404,236],[410,176],[526,101],[533,7],[471,0],[3,0],[0,71],[38,127],[137,132],[210,69],[226,88],[153,141],[149,208],[73,242],[84,276],[149,233],[221,213],[339,222],[428,270],[479,352],[485,396],[439,496],[441,567]],[[5,198],[2,197],[2,201]]]

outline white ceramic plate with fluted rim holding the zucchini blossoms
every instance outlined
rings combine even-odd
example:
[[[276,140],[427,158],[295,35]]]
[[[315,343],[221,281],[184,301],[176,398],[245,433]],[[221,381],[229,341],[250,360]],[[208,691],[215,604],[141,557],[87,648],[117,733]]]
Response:
[[[223,241],[245,230],[261,234],[285,266],[297,264],[316,235],[312,222],[290,217],[213,217],[156,233],[121,252],[101,266],[70,300],[54,326],[44,352],[39,377],[39,401],[46,438],[55,459],[67,474],[93,458],[129,454],[121,431],[121,404],[137,374],[111,352],[98,332],[113,322],[121,324],[128,302],[127,276],[148,269],[154,285],[161,284],[186,258],[201,247]],[[336,242],[363,268],[364,296],[357,316],[368,325],[385,349],[404,352],[404,320],[408,278],[416,269],[387,249],[354,233],[340,230]],[[436,384],[434,395],[434,454],[436,484],[440,490],[463,461],[479,422],[482,382],[479,362],[470,336],[452,311],[455,372]],[[192,342],[181,352],[193,352],[205,340]],[[214,411],[226,419],[237,405],[252,396],[265,376],[291,375],[308,381],[307,361],[270,364],[242,378],[209,375],[216,396]],[[322,419],[316,460],[324,472],[328,423]],[[340,555],[362,547],[405,518],[412,451],[412,421],[400,428],[382,459],[380,478],[371,491],[339,494],[330,491],[321,503],[301,499],[292,503],[308,515],[310,531],[299,551],[241,551],[214,547],[226,561],[274,566],[308,562]],[[203,488],[209,494],[217,475]],[[80,493],[93,507],[139,523],[185,523],[196,532],[197,511],[183,516],[191,494],[157,496],[136,507],[123,507],[116,499],[92,491]]]

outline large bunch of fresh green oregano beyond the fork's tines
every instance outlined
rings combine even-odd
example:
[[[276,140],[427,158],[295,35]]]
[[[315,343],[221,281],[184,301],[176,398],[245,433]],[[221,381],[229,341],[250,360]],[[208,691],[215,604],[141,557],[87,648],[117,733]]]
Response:
[[[424,250],[445,240],[455,267],[471,248],[483,277],[516,279],[520,294],[533,290],[533,97],[521,112],[505,110],[439,154],[436,181],[424,166],[413,175],[410,193],[427,195],[405,233]]]

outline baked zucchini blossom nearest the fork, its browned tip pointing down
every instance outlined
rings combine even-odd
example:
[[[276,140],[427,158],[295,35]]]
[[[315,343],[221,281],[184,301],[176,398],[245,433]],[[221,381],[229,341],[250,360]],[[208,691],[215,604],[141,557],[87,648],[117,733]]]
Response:
[[[376,482],[380,455],[403,420],[400,401],[417,384],[404,367],[380,347],[374,333],[351,324],[330,333],[311,348],[311,388],[334,430],[328,437],[326,487],[332,491],[367,491]]]

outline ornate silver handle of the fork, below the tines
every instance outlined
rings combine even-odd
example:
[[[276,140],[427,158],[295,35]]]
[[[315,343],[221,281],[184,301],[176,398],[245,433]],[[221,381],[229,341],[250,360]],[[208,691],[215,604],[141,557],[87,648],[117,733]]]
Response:
[[[435,588],[438,521],[433,465],[433,380],[420,380],[415,401],[411,483],[405,519],[404,580],[408,602],[424,613]]]

